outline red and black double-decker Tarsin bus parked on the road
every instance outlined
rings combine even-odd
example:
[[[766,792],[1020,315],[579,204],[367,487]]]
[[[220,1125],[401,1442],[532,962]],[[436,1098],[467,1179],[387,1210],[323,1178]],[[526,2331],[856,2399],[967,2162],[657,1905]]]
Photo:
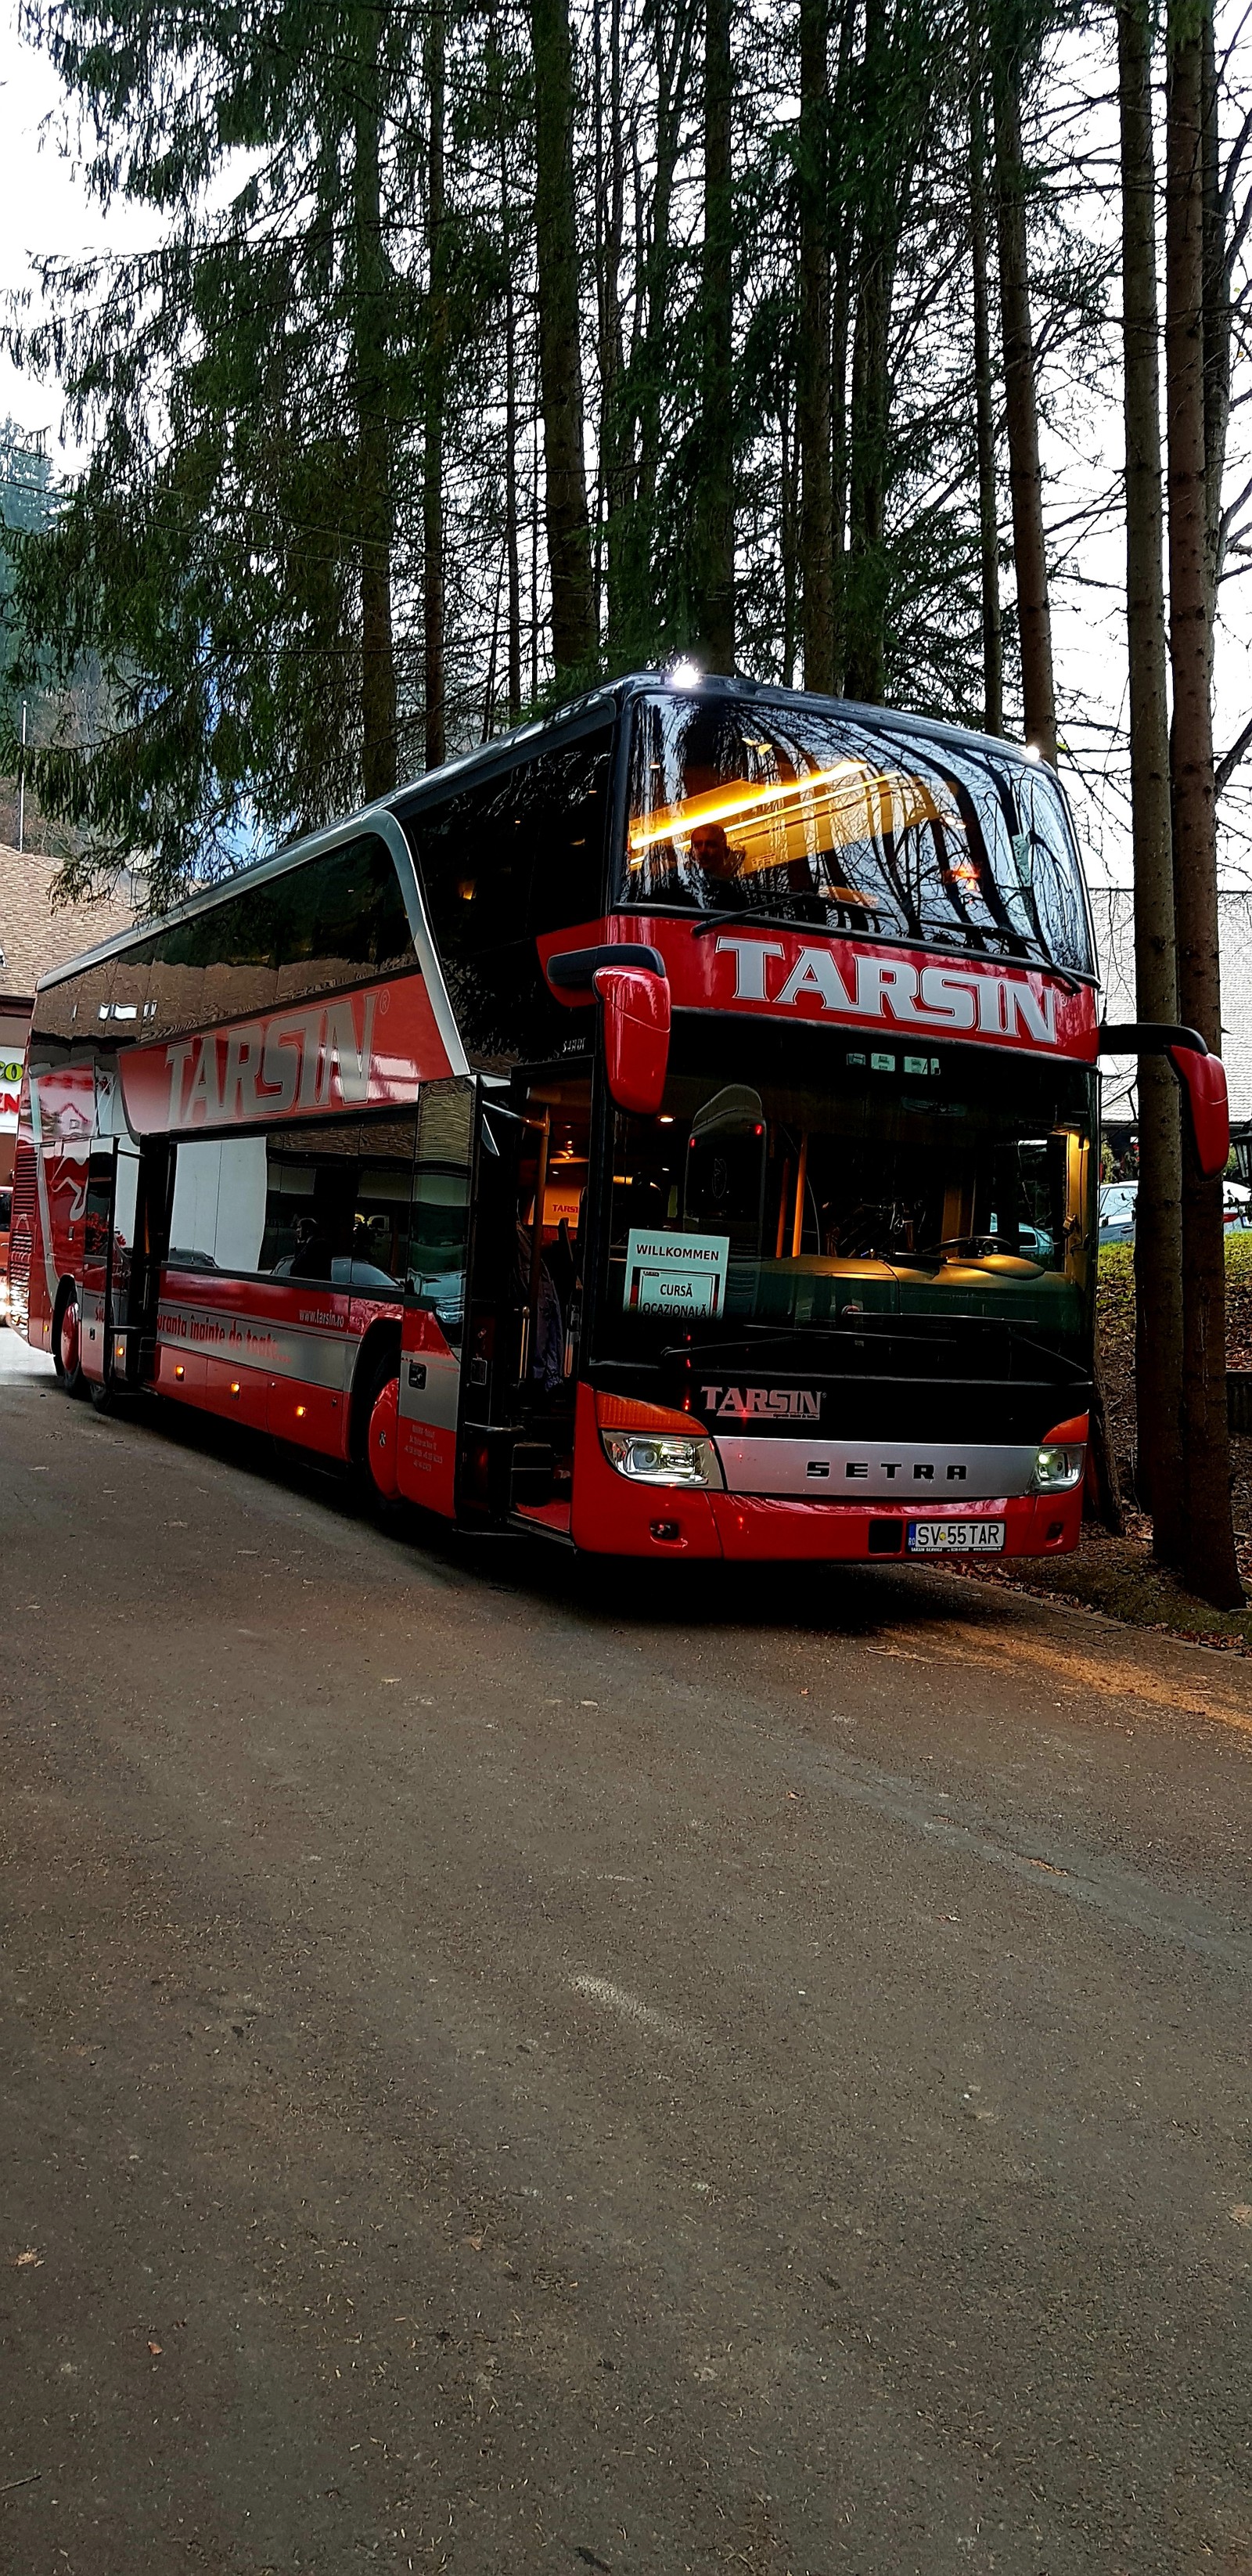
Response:
[[[1054,773],[623,680],[46,976],[13,1309],[466,1525],[1072,1548],[1100,1033]]]

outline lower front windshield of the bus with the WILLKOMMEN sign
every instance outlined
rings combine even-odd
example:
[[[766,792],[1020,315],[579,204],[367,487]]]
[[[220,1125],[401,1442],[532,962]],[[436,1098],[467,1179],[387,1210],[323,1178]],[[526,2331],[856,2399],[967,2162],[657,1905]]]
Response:
[[[1079,1064],[683,1018],[665,1110],[616,1123],[598,1355],[747,1334],[860,1370],[886,1334],[927,1373],[956,1329],[974,1376],[1082,1373],[1090,1139]]]

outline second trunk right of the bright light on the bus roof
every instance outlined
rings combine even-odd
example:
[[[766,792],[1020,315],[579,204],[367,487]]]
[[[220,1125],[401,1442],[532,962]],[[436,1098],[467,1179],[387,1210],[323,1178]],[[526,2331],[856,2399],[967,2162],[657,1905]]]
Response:
[[[801,451],[801,621],[804,688],[835,688],[832,477],[830,477],[830,15],[827,0],[801,0],[799,111],[799,451]]]

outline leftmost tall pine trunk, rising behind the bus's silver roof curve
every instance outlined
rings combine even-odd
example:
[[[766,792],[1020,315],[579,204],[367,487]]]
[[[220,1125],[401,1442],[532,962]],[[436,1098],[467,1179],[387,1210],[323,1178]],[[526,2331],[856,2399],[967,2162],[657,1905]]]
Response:
[[[356,471],[361,515],[361,791],[366,804],[397,783],[397,665],[392,644],[392,430],[386,404],[389,327],[379,170],[381,10],[358,13],[353,111],[353,355]]]

